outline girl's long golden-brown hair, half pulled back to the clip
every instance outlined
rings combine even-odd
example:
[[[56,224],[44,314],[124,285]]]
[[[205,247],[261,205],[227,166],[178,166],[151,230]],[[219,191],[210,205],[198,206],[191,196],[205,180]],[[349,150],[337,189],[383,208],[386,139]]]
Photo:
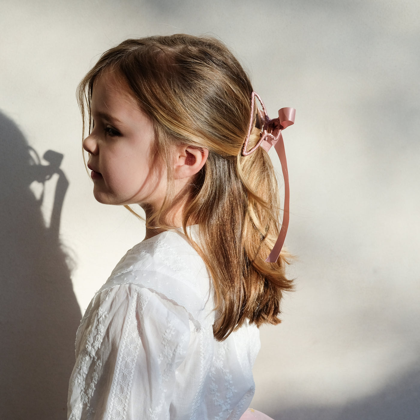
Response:
[[[183,228],[210,272],[216,318],[214,336],[224,340],[246,319],[257,326],[278,324],[283,291],[292,289],[286,278],[289,254],[265,262],[279,232],[280,199],[273,166],[259,147],[249,156],[241,149],[251,113],[249,77],[222,42],[186,34],[127,39],[106,51],[78,87],[85,131],[95,79],[115,71],[147,113],[155,128],[156,151],[168,164],[171,144],[209,150],[207,162],[195,177],[183,213]],[[249,148],[260,138],[255,122]],[[168,165],[168,181],[171,181]],[[149,226],[169,228],[167,197]],[[129,207],[128,207],[129,208]],[[129,208],[133,213],[134,210]],[[199,225],[199,241],[186,226]]]

